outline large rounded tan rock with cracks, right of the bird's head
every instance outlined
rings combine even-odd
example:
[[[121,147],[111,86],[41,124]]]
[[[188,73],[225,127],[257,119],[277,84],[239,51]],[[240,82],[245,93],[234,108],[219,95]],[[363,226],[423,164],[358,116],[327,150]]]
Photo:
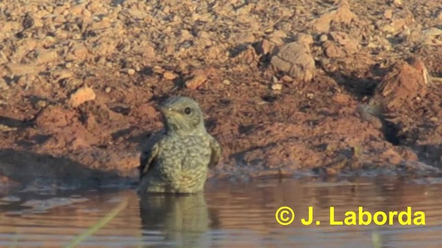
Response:
[[[315,61],[309,45],[300,41],[288,43],[271,58],[276,70],[289,74],[299,81],[310,81],[314,76]]]

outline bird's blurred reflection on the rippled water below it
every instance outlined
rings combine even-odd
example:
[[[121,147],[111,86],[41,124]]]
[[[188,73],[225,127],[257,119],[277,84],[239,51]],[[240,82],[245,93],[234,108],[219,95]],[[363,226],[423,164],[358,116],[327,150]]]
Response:
[[[160,230],[162,243],[173,247],[207,247],[209,230],[218,221],[206,205],[204,194],[145,194],[140,199],[144,240]],[[155,247],[155,245],[153,245]]]

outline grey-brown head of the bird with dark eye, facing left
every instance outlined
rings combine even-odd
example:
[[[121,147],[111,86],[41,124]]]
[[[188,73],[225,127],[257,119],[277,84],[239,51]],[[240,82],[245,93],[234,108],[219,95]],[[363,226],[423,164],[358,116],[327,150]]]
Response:
[[[167,132],[192,134],[206,130],[200,105],[189,97],[173,96],[164,101],[159,110],[164,116]]]

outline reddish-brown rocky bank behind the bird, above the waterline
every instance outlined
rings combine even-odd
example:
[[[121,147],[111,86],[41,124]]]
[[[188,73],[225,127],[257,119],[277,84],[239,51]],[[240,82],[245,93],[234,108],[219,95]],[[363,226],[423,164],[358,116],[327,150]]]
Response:
[[[223,147],[211,176],[442,166],[440,0],[5,0],[0,13],[3,183],[136,178],[171,95],[198,100]]]

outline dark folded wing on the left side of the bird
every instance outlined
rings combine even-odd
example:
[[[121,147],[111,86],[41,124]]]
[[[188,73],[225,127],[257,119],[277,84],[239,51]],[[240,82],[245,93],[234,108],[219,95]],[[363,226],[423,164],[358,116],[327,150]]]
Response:
[[[148,141],[143,145],[141,156],[140,156],[140,166],[138,167],[140,172],[140,179],[148,174],[151,170],[155,157],[160,151],[160,141],[164,132],[158,132],[148,138]]]

